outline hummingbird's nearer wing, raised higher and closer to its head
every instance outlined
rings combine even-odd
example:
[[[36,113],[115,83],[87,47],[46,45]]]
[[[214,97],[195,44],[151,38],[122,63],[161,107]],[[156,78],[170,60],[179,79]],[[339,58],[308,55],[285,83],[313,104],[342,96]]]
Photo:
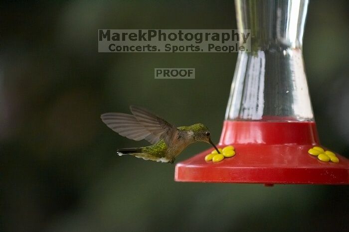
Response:
[[[177,128],[163,118],[152,114],[144,108],[130,106],[130,110],[137,120],[153,135],[164,139],[166,144],[170,144]]]

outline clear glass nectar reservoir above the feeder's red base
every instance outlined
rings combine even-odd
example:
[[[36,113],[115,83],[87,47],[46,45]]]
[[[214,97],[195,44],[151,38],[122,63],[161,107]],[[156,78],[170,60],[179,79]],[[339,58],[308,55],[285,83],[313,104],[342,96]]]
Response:
[[[308,0],[236,0],[238,29],[251,30],[239,52],[227,120],[314,120],[302,39]]]

